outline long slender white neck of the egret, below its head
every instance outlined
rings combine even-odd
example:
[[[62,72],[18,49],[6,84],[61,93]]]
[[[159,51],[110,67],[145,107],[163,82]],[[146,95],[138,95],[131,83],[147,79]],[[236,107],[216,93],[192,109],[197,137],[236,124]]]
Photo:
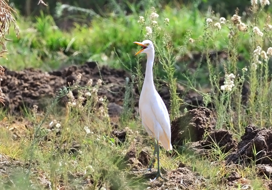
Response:
[[[144,77],[144,86],[147,85],[147,87],[154,87],[154,81],[153,81],[153,63],[154,63],[154,57],[155,52],[153,51],[150,54],[147,54],[147,63],[146,63],[146,69],[145,69],[145,77]]]

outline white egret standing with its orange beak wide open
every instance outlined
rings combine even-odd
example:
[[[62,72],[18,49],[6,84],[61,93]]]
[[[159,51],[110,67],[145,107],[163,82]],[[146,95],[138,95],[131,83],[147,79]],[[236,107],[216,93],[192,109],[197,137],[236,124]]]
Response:
[[[152,41],[150,40],[133,43],[141,45],[143,47],[135,55],[140,53],[147,54],[144,84],[141,90],[139,100],[139,113],[142,124],[154,142],[154,154],[153,158],[151,159],[151,164],[148,166],[147,170],[151,170],[155,159],[155,154],[157,153],[158,170],[155,179],[157,179],[158,177],[163,178],[160,174],[159,141],[166,150],[172,150],[172,145],[169,114],[153,82],[152,68],[155,56],[155,49]],[[155,139],[157,139],[157,143]]]

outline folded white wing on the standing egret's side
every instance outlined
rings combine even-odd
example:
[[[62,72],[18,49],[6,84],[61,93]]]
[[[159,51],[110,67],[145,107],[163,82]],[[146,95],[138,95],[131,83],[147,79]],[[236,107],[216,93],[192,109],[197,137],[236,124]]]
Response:
[[[156,117],[158,123],[163,128],[167,138],[171,138],[171,129],[170,129],[170,118],[166,106],[159,96],[158,98],[153,98],[151,102],[151,108]]]

